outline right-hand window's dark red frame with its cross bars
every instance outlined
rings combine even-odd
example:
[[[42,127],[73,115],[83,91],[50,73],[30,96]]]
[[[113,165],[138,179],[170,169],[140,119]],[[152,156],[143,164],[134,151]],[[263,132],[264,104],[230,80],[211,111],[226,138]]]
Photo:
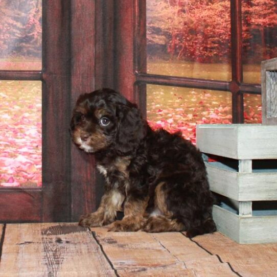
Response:
[[[232,80],[205,80],[146,73],[146,1],[133,0],[135,18],[133,32],[134,99],[140,103],[146,117],[146,85],[168,85],[188,88],[228,91],[232,94],[232,123],[244,123],[244,94],[261,95],[261,84],[243,82],[242,71],[242,11],[241,1],[230,2]],[[120,1],[122,2],[122,0]],[[124,14],[121,14],[124,16]],[[126,33],[127,35],[127,33]],[[130,35],[130,33],[128,33]],[[122,36],[124,36],[122,34]],[[128,56],[132,56],[129,53]],[[129,58],[129,60],[131,60]],[[130,81],[132,82],[132,81]],[[131,84],[129,84],[131,86]]]

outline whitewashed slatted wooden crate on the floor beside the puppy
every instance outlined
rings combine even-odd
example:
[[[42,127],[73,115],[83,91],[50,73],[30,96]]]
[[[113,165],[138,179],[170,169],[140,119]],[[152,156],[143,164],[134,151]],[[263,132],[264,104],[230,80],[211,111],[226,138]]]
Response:
[[[239,243],[277,242],[277,126],[199,125],[219,232]],[[209,155],[218,161],[209,161]]]

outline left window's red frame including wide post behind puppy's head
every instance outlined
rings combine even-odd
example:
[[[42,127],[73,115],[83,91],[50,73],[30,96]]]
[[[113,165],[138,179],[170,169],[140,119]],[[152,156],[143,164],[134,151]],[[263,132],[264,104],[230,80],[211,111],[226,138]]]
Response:
[[[68,129],[80,93],[113,86],[106,33],[112,1],[42,1],[42,69],[0,70],[0,80],[42,81],[42,187],[0,188],[0,222],[77,221],[96,209],[103,186],[94,157],[77,149]]]

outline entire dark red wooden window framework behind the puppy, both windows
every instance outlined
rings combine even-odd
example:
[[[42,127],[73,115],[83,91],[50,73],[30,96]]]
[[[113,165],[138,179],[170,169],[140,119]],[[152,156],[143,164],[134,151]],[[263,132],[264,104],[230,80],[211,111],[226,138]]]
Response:
[[[93,155],[68,133],[80,93],[116,89],[146,117],[147,84],[230,91],[233,123],[243,123],[243,94],[261,94],[261,85],[243,82],[240,1],[230,8],[232,81],[225,82],[146,73],[146,0],[42,1],[42,70],[0,70],[1,80],[42,81],[42,188],[0,188],[0,222],[77,221],[96,210],[103,180]]]

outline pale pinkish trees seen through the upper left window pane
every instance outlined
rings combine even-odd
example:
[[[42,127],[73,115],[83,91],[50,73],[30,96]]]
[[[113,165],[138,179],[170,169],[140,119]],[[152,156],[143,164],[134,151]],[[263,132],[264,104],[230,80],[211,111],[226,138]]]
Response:
[[[41,0],[0,1],[0,57],[41,56]]]

